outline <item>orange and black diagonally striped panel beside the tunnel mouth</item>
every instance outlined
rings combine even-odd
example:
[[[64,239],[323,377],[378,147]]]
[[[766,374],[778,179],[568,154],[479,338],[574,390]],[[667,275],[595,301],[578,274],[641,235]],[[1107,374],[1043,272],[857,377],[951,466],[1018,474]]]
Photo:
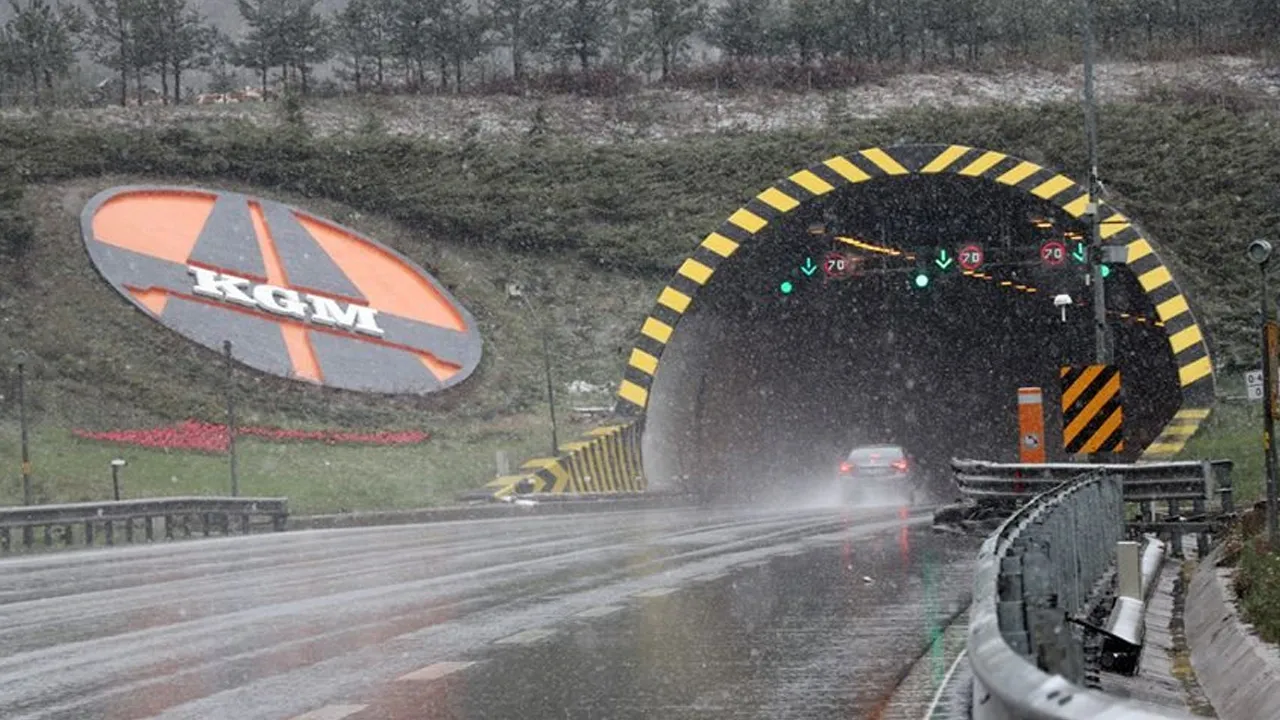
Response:
[[[1124,406],[1120,368],[1068,365],[1060,369],[1062,386],[1062,448],[1070,455],[1121,452]]]

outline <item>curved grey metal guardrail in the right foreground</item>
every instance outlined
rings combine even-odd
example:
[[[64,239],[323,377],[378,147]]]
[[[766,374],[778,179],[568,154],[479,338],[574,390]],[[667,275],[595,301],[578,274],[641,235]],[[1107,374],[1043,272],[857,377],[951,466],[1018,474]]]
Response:
[[[1192,720],[1192,715],[1088,689],[1071,621],[1124,533],[1116,474],[1094,469],[1041,493],[982,546],[968,656],[973,720]]]

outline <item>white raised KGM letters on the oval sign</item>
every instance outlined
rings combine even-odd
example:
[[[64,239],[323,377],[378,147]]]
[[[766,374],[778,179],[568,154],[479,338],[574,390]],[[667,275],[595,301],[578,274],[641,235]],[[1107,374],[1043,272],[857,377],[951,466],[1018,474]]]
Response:
[[[201,297],[223,300],[242,307],[265,310],[273,315],[294,318],[317,325],[343,328],[374,337],[383,337],[385,334],[378,327],[378,310],[372,307],[356,305],[355,302],[342,304],[332,297],[320,295],[303,295],[296,290],[274,284],[255,284],[248,278],[218,273],[195,265],[188,265],[187,272],[196,278],[196,286],[192,288],[192,292]]]

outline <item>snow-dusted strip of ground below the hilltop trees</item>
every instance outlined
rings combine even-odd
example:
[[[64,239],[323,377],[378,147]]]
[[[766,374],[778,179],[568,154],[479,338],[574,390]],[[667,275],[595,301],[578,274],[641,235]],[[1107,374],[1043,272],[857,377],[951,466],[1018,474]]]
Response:
[[[1280,97],[1280,73],[1248,58],[1215,56],[1165,63],[1102,63],[1097,72],[1103,101],[1133,99],[1158,85],[1221,87]],[[517,140],[529,133],[541,109],[547,131],[591,142],[666,140],[723,131],[760,132],[820,127],[833,115],[876,118],[909,108],[973,108],[1038,105],[1079,97],[1079,65],[1062,72],[1019,69],[995,73],[943,70],[911,73],[849,90],[814,92],[699,92],[644,90],[623,97],[577,96],[401,96],[366,101],[337,99],[307,106],[306,119],[321,136],[358,132],[378,115],[393,135],[443,141]],[[0,117],[32,117],[6,109]],[[180,108],[100,108],[61,110],[72,123],[128,127],[201,127],[242,120],[274,126],[275,104],[201,105]]]

